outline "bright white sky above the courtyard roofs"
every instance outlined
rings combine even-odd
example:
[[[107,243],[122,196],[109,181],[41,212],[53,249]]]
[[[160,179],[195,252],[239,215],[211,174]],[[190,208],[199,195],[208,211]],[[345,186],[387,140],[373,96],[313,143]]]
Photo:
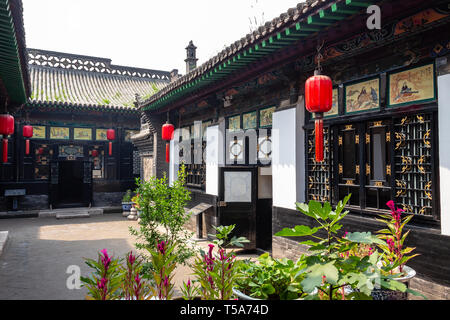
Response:
[[[28,48],[109,58],[112,64],[186,73],[303,0],[23,0]],[[250,23],[250,19],[252,23]]]

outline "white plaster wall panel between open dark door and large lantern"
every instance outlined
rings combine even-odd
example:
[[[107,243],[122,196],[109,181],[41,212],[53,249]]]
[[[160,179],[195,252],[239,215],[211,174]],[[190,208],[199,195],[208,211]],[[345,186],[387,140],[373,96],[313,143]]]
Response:
[[[295,209],[297,201],[296,139],[296,109],[274,112],[272,117],[272,188],[275,207]]]

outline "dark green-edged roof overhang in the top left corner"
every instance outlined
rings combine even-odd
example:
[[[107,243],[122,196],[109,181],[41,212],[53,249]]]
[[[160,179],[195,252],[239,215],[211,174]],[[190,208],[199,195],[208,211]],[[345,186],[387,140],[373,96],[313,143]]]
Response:
[[[30,95],[21,0],[0,0],[0,82],[9,102],[25,103]]]

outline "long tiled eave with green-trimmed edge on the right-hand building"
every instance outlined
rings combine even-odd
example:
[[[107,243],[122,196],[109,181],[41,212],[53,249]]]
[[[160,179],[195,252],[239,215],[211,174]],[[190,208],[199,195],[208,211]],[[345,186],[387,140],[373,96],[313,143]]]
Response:
[[[140,104],[144,111],[164,108],[179,99],[245,69],[264,57],[365,11],[377,0],[307,0],[247,34],[200,67],[170,83]]]

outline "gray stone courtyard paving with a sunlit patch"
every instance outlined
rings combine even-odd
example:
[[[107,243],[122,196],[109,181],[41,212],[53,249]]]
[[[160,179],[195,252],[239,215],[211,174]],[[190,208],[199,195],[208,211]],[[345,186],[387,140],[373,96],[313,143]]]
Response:
[[[68,266],[78,265],[86,276],[90,268],[83,257],[96,258],[104,248],[115,256],[136,251],[129,226],[138,227],[138,223],[120,213],[70,220],[0,219],[0,231],[9,231],[0,256],[0,300],[84,299],[85,288],[69,290],[66,286]],[[207,242],[198,244],[207,246]],[[190,273],[187,267],[178,267],[175,288]]]

